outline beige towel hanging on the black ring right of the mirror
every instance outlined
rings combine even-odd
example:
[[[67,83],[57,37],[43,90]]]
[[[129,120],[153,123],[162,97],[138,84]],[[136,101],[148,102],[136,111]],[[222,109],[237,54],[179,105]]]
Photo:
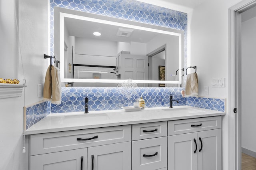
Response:
[[[191,73],[187,75],[185,95],[186,97],[198,96],[198,77],[196,73]]]

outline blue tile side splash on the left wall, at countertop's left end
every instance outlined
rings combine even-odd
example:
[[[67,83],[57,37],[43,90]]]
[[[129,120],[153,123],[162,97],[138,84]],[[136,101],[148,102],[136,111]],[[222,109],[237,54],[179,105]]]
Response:
[[[50,114],[50,102],[44,101],[26,108],[26,129]]]

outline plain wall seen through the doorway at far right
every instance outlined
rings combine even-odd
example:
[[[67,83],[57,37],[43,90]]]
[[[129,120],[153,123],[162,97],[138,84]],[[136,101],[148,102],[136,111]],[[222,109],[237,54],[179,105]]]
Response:
[[[256,152],[256,17],[242,22],[242,148]]]

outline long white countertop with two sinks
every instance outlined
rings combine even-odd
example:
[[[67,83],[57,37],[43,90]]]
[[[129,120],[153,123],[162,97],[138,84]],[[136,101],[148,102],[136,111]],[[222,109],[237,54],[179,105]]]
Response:
[[[32,127],[28,128],[24,134],[39,134],[68,130],[80,130],[86,128],[173,121],[180,119],[220,116],[225,114],[225,112],[188,106],[177,106],[174,108],[146,108],[142,109],[141,111],[132,112],[125,112],[123,110],[110,110],[91,111],[88,114],[84,114],[83,112],[54,113],[48,115]]]

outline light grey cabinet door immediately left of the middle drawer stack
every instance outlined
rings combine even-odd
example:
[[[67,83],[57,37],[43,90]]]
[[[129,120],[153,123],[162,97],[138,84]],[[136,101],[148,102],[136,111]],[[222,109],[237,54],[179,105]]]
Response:
[[[131,142],[88,148],[88,170],[131,170]]]

